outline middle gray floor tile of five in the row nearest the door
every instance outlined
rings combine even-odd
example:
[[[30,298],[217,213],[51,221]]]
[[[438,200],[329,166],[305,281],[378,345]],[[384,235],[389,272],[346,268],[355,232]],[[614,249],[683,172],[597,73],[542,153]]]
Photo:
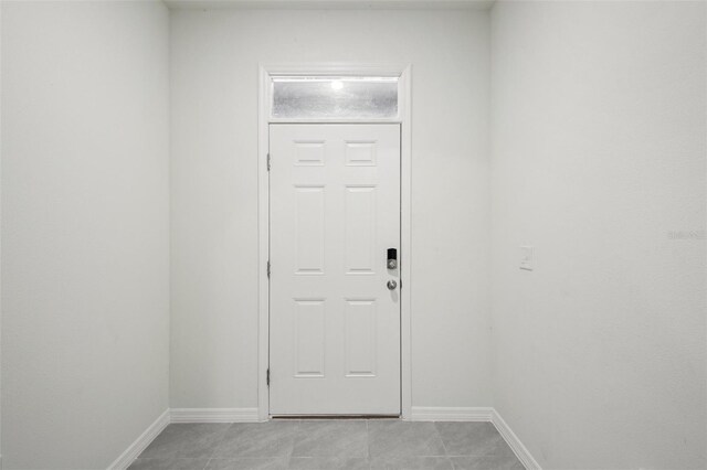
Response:
[[[368,457],[365,420],[320,419],[299,421],[294,457]]]

